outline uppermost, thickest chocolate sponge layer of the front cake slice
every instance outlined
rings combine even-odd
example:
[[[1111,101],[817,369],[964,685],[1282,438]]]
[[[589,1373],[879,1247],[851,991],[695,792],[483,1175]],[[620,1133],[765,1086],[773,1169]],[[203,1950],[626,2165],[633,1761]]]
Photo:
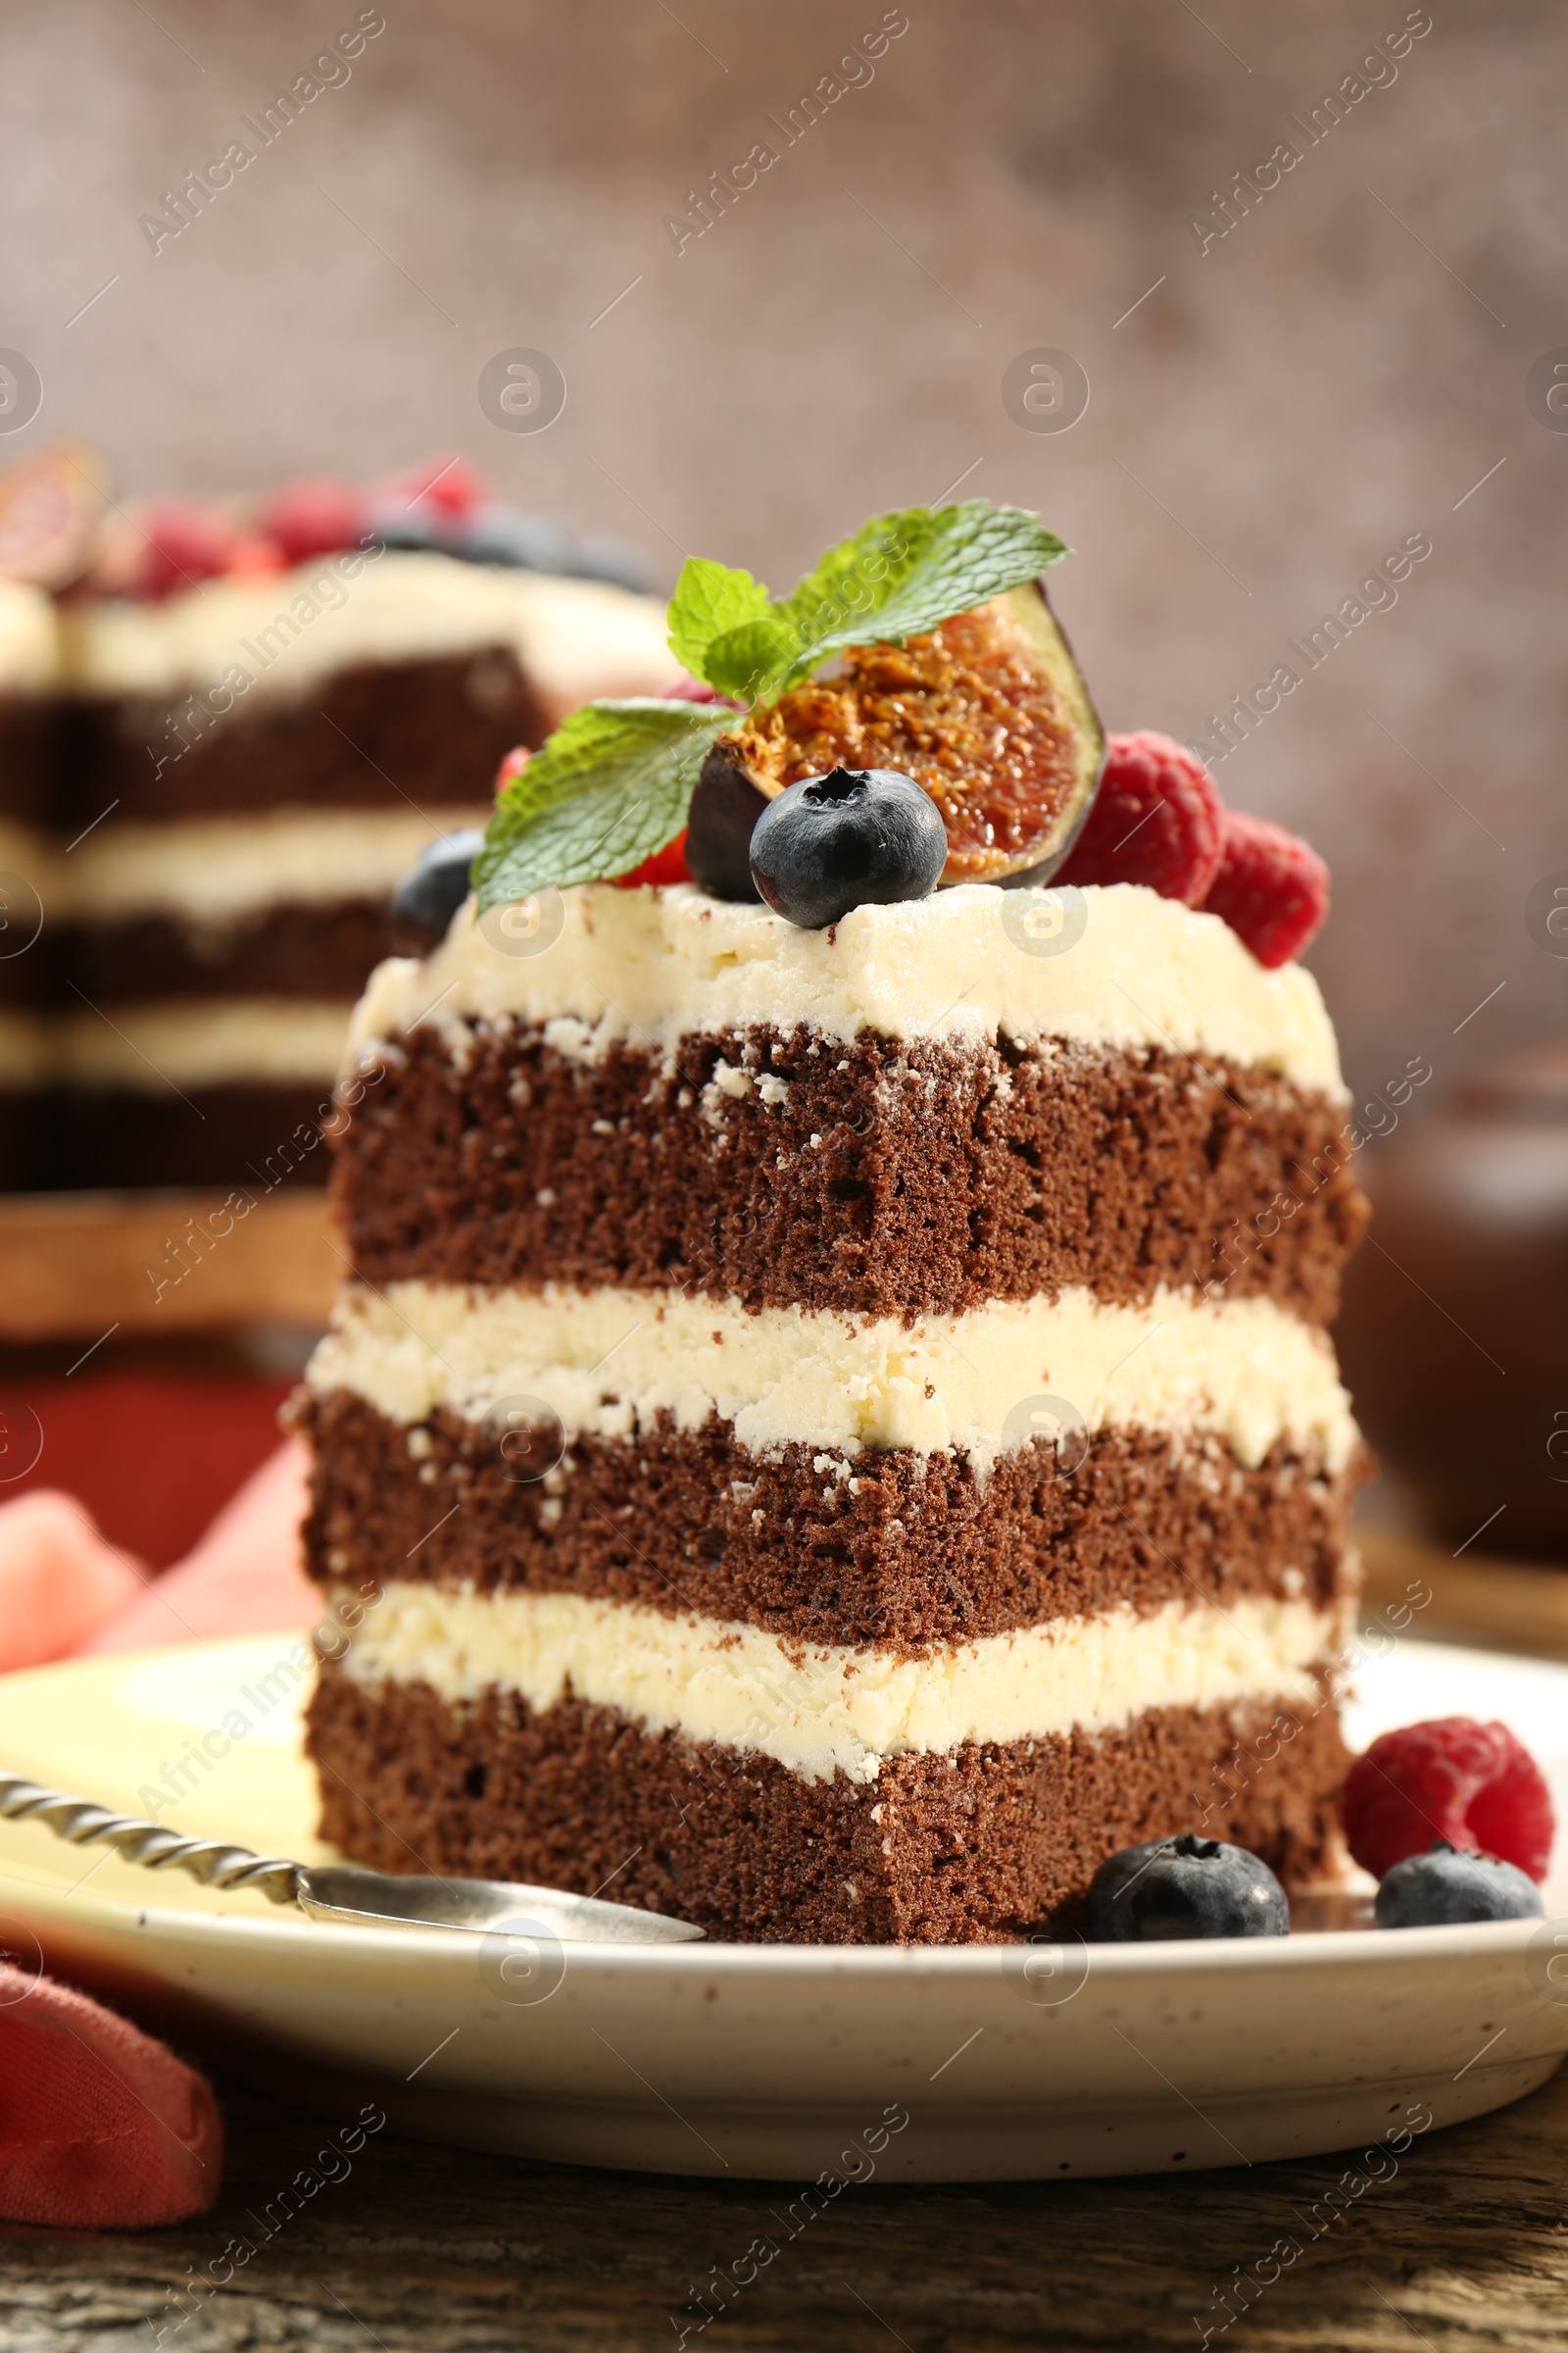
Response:
[[[1321,1325],[1366,1219],[1340,1129],[1324,1096],[1164,1049],[748,1031],[684,1038],[672,1066],[635,1045],[588,1064],[480,1024],[456,1061],[430,1026],[400,1040],[334,1188],[378,1285],[912,1318],[1215,1282]]]

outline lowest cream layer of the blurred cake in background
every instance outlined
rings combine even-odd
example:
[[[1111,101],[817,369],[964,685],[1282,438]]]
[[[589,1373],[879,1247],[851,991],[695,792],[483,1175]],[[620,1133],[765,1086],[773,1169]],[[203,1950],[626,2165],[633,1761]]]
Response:
[[[82,1007],[54,1031],[56,1068],[78,1087],[136,1094],[320,1082],[327,1104],[346,1026],[346,1005],[308,998],[115,1005],[113,1021]]]

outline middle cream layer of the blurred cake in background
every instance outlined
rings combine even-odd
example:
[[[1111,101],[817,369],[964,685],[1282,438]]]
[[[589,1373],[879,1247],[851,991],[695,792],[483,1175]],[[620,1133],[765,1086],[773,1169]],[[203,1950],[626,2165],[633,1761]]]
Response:
[[[388,899],[423,849],[489,809],[266,809],[160,826],[113,819],[56,861],[49,913],[85,922],[174,915],[226,927],[270,906]]]

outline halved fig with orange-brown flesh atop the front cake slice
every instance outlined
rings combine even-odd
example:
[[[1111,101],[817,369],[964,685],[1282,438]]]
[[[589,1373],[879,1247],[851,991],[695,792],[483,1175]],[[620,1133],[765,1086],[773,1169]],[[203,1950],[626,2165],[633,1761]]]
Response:
[[[1025,581],[903,647],[856,647],[835,678],[792,687],[722,734],[703,762],[686,854],[703,880],[698,798],[705,816],[733,800],[741,819],[745,805],[755,816],[748,786],[773,800],[830,767],[891,767],[943,814],[943,882],[1044,882],[1072,849],[1103,760],[1105,729],[1072,649],[1041,584]]]

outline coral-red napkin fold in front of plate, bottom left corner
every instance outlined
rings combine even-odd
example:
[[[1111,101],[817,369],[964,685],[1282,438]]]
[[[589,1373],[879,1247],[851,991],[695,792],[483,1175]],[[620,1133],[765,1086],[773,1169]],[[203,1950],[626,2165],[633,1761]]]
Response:
[[[214,2202],[212,2087],[85,1993],[0,1962],[0,2214],[148,2231]]]

